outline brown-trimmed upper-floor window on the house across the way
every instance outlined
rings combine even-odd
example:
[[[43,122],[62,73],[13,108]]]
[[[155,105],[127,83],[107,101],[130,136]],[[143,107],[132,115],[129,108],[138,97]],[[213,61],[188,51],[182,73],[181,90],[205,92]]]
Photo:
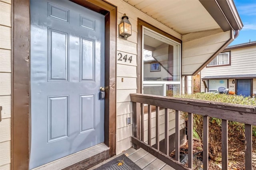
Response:
[[[227,66],[230,65],[230,51],[220,53],[217,55],[208,65],[207,67],[211,66]]]

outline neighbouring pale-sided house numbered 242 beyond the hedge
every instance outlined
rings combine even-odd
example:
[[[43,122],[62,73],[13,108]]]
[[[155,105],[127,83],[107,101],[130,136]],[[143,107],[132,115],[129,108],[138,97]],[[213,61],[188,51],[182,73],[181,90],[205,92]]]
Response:
[[[226,47],[201,70],[201,92],[228,88],[242,96],[256,96],[256,41]]]

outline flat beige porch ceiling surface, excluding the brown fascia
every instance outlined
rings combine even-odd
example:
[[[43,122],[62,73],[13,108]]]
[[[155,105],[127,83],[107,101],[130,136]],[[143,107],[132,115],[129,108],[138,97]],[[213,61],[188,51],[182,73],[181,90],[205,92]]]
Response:
[[[220,28],[198,0],[124,1],[180,34]]]

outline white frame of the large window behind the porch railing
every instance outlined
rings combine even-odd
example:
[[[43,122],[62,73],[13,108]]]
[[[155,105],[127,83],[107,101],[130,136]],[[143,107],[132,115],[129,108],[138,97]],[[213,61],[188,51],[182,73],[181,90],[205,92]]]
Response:
[[[179,50],[178,50],[178,56],[179,56],[179,64],[180,64],[180,81],[144,81],[144,55],[143,55],[143,45],[144,45],[144,29],[147,29],[148,31],[151,31],[153,33],[155,33],[156,35],[158,35],[159,37],[161,37],[161,41],[165,42],[168,44],[168,42],[172,42],[172,43],[176,43],[177,45],[179,45]],[[146,86],[155,86],[155,85],[163,85],[164,86],[164,90],[163,90],[163,96],[166,96],[166,85],[167,84],[179,84],[180,85],[180,94],[181,95],[181,92],[182,92],[182,87],[181,87],[181,82],[182,82],[182,76],[181,76],[181,67],[182,67],[182,64],[181,64],[181,43],[178,43],[168,37],[165,37],[164,35],[156,32],[156,31],[153,31],[152,29],[149,29],[148,27],[145,27],[145,26],[142,26],[142,57],[141,57],[141,70],[142,70],[142,73],[141,73],[141,92],[143,94],[143,86],[146,85]],[[161,65],[160,65],[161,67]],[[150,68],[151,69],[151,68]]]

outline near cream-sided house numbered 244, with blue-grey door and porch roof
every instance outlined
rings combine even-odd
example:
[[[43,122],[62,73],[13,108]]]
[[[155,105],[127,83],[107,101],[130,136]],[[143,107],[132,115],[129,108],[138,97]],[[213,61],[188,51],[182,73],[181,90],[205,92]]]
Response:
[[[162,94],[180,94],[243,26],[231,0],[0,0],[0,7],[1,170],[90,167],[129,149],[130,94],[149,85],[143,50],[164,47],[153,56],[170,73],[161,77]],[[124,13],[127,40],[118,30]]]

